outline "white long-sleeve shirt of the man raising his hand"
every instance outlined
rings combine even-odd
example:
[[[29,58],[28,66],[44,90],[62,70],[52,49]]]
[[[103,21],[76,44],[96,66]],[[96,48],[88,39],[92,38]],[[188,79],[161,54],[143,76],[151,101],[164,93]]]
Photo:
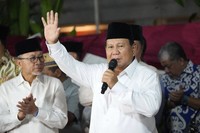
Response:
[[[157,132],[154,115],[160,107],[161,89],[156,72],[134,60],[118,75],[113,88],[101,94],[108,64],[89,65],[74,60],[60,42],[47,47],[62,71],[93,90],[90,133]]]

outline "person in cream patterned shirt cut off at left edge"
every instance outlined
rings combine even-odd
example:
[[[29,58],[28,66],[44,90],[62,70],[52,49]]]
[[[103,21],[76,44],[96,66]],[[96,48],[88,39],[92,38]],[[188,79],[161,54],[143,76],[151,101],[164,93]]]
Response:
[[[8,34],[9,27],[0,25],[0,85],[19,74],[19,68],[15,64],[14,57],[6,49]]]

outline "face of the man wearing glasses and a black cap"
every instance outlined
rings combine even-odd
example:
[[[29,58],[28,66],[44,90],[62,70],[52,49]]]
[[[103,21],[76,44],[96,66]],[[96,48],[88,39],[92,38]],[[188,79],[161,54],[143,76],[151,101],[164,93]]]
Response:
[[[42,51],[36,51],[20,55],[17,64],[23,75],[40,75],[44,68],[43,53]]]

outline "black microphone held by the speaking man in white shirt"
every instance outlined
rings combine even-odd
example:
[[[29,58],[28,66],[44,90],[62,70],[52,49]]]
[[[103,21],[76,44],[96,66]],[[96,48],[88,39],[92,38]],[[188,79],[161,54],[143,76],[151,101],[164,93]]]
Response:
[[[112,59],[108,64],[108,69],[113,71],[116,68],[116,66],[117,66],[117,60]],[[101,87],[101,94],[104,94],[107,88],[108,88],[108,84],[103,82],[103,85]]]

